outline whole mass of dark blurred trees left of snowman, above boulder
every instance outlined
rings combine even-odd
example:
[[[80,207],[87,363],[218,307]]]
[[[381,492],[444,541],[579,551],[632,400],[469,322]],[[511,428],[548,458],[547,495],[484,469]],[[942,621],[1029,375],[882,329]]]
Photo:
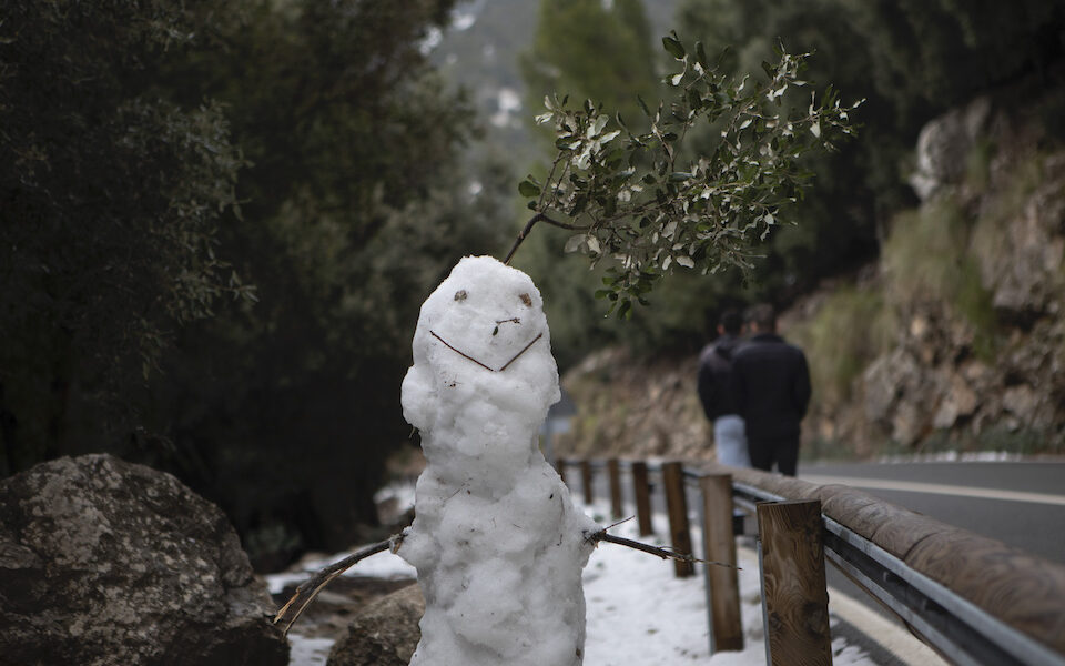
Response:
[[[508,168],[459,168],[476,123],[419,48],[453,2],[8,6],[8,471],[114,451],[258,565],[349,545],[409,434],[418,306],[506,232]]]

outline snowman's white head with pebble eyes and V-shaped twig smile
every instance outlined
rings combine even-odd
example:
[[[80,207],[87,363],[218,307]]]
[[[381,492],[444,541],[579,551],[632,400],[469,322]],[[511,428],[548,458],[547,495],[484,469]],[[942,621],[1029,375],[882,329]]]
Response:
[[[503,411],[538,427],[558,398],[550,332],[532,280],[490,256],[459,261],[422,305],[414,365],[403,383],[404,416],[425,431],[445,413],[454,422]]]

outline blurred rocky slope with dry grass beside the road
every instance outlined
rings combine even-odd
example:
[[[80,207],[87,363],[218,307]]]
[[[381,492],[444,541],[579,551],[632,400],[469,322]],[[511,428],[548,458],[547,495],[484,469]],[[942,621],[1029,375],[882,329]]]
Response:
[[[991,98],[930,122],[880,260],[781,317],[810,356],[804,456],[1065,452],[1065,150]],[[564,377],[562,454],[708,456],[696,359],[621,350]]]

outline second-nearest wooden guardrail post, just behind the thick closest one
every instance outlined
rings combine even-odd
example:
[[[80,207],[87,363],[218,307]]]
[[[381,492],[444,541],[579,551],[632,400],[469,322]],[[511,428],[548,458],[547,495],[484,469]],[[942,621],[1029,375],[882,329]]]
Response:
[[[702,491],[702,544],[706,559],[736,565],[732,533],[732,475],[711,474],[699,480]],[[710,654],[743,649],[740,584],[731,567],[706,565],[707,612],[710,615]]]

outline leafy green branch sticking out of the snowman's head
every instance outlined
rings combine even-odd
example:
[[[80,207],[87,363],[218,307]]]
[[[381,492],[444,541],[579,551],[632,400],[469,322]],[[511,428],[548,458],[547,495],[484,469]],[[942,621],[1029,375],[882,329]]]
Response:
[[[529,175],[518,185],[534,215],[506,258],[539,222],[577,232],[566,251],[608,262],[596,296],[622,317],[674,266],[703,274],[752,268],[754,245],[812,175],[800,159],[853,134],[850,113],[863,101],[842,104],[829,87],[820,99],[811,91],[805,108],[784,104],[790,90],[809,85],[801,79],[809,53],[779,47],[779,61],[762,63],[764,80],[737,81],[699,42],[689,53],[673,32],[662,44],[680,71],[663,80],[669,95],[657,109],[638,100],[647,130],[590,100],[571,109],[566,98],[545,98],[536,121],[554,127],[557,153],[542,182]],[[699,128],[712,132],[711,149],[687,157],[686,139]]]

